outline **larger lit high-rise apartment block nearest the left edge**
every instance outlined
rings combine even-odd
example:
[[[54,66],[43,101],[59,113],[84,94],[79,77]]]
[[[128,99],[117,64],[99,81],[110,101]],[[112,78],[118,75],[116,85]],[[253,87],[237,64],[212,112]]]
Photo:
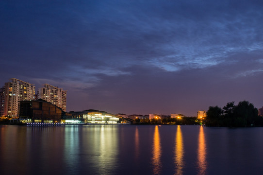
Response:
[[[4,86],[3,115],[17,117],[20,101],[34,100],[34,84],[11,78]]]

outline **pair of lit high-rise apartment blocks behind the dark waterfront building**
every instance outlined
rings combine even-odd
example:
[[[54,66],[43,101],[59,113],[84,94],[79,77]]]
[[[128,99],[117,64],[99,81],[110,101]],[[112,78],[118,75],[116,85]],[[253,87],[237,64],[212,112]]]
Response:
[[[34,84],[11,78],[0,88],[0,116],[17,118],[21,103],[37,99],[45,100],[66,111],[66,90],[45,84],[36,93]]]

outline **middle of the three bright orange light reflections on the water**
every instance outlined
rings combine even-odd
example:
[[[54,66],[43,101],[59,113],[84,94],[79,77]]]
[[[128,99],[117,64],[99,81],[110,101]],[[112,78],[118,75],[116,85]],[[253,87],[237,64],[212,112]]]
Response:
[[[183,139],[182,139],[182,133],[181,133],[181,126],[177,126],[176,131],[176,139],[175,139],[175,168],[176,172],[175,175],[182,175],[183,174],[183,166],[184,166],[184,160],[183,160]]]

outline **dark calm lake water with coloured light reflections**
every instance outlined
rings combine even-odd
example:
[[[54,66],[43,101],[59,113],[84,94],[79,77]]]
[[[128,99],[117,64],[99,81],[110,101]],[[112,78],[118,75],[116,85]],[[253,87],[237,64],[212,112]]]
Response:
[[[263,128],[0,126],[0,175],[262,175]]]

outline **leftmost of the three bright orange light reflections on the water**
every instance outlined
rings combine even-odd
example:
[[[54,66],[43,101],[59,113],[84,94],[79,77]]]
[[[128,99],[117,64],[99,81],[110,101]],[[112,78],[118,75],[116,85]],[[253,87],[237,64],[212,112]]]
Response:
[[[154,138],[153,138],[153,149],[152,149],[152,165],[153,165],[153,174],[161,174],[162,164],[161,164],[161,141],[159,136],[158,126],[155,126]]]

